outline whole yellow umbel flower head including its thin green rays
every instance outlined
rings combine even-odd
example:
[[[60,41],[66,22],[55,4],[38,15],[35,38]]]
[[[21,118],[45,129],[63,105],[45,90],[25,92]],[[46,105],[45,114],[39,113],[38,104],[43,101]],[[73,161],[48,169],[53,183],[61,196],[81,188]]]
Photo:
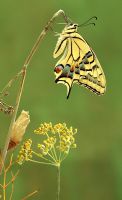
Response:
[[[27,140],[21,147],[17,162],[23,164],[24,161],[51,164],[59,166],[67,157],[71,148],[76,148],[75,137],[77,129],[68,128],[65,123],[41,124],[34,130],[34,133],[41,136],[40,142],[36,144],[34,151],[31,147],[32,140]],[[36,159],[35,159],[36,158]],[[41,158],[44,162],[39,162]]]

